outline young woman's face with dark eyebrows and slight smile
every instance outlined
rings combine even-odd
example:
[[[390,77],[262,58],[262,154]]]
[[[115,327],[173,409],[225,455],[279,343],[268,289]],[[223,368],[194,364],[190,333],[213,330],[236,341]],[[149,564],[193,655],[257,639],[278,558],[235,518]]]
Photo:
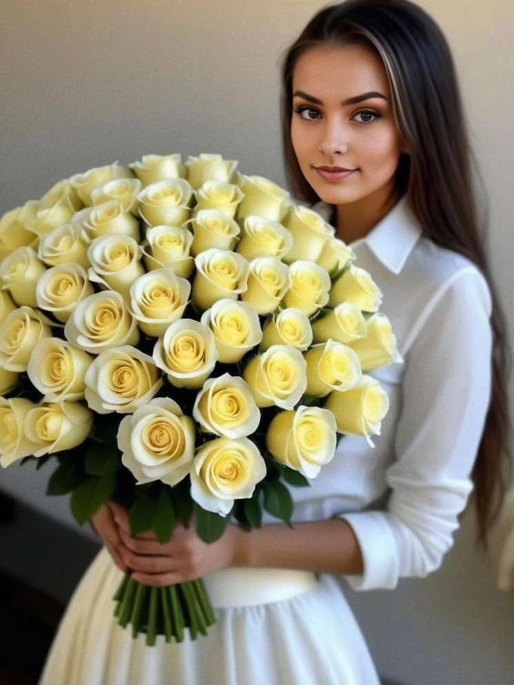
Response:
[[[359,102],[348,102],[357,97]],[[291,138],[299,166],[322,200],[335,205],[385,201],[404,148],[386,71],[372,50],[323,46],[299,57]],[[324,167],[351,173],[324,172]]]

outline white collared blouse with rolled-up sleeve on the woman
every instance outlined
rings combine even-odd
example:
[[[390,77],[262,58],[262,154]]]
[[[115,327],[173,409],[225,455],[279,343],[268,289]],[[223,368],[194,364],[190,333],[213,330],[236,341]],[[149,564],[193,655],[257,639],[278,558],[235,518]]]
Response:
[[[330,220],[328,204],[313,209]],[[491,395],[491,295],[469,259],[422,235],[405,196],[350,246],[382,290],[404,361],[370,372],[390,400],[375,446],[344,435],[310,487],[290,488],[293,522],[346,519],[364,559],[350,586],[395,588],[439,568],[473,489]]]

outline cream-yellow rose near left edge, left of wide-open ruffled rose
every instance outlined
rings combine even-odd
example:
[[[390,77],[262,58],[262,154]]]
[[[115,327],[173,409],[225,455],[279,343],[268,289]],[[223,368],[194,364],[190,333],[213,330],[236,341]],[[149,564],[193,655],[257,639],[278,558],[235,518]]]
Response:
[[[84,399],[84,375],[94,357],[60,338],[43,338],[32,350],[27,374],[45,402]]]

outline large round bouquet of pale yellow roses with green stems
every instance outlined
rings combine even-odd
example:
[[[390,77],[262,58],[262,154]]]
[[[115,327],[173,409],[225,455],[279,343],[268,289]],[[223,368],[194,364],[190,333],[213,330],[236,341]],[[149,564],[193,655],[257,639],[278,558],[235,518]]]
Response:
[[[0,463],[50,457],[77,522],[109,499],[161,542],[263,508],[291,525],[338,434],[379,435],[366,374],[402,361],[382,294],[317,212],[236,161],[146,155],[56,183],[0,219]],[[148,588],[132,635],[215,621],[201,579]]]

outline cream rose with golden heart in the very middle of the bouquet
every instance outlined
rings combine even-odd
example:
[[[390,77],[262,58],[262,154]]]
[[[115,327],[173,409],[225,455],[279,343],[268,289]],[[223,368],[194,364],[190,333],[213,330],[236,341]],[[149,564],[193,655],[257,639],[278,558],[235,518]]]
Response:
[[[212,331],[193,319],[168,326],[152,356],[176,388],[201,388],[219,359]]]

